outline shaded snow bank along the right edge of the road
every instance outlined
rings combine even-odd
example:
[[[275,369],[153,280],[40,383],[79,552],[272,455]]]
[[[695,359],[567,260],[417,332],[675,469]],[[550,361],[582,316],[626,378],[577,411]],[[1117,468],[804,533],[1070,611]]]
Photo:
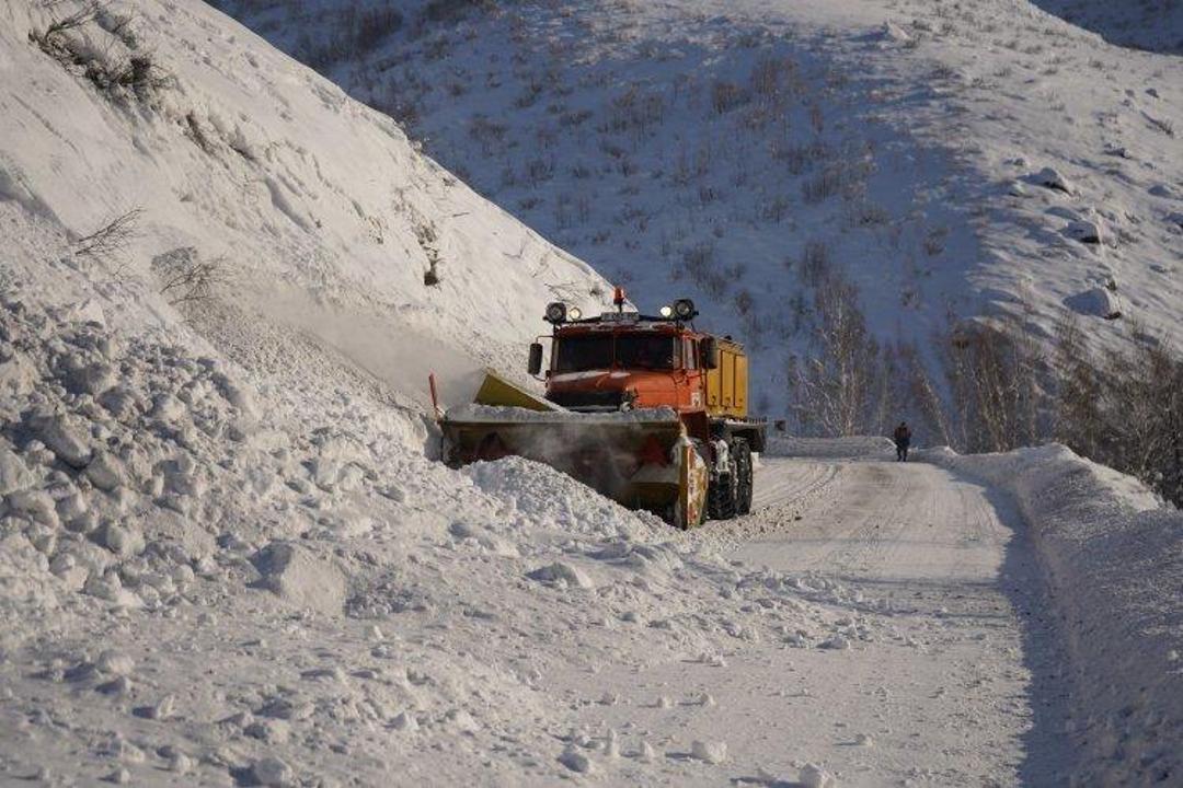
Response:
[[[920,456],[1008,491],[1030,527],[1071,659],[1074,784],[1183,777],[1183,513],[1059,444]]]

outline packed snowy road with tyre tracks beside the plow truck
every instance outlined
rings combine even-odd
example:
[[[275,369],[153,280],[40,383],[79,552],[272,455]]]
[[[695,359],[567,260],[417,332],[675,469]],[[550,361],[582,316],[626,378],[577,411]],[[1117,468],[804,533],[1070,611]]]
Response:
[[[1054,655],[1032,623],[1039,582],[1013,549],[1022,523],[1004,499],[922,463],[771,458],[758,487],[749,517],[706,538],[744,571],[796,578],[845,636],[817,643],[790,624],[725,665],[605,671],[621,697],[689,699],[595,706],[586,724],[646,736],[667,784],[782,784],[807,762],[842,786],[1056,782],[1055,737],[1042,734],[1056,729],[1041,667]],[[686,757],[693,740],[724,741],[728,760],[704,770]]]

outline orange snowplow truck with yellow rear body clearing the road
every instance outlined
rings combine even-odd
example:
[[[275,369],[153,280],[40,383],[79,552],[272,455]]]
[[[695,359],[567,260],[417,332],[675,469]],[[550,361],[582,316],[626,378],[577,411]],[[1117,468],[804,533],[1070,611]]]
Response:
[[[555,302],[549,369],[543,341],[529,372],[545,396],[490,372],[476,403],[440,421],[444,458],[459,465],[519,455],[562,470],[634,509],[691,528],[751,508],[752,454],[765,424],[748,416],[748,357],[730,337],[696,331],[694,304],[659,314],[584,318]]]

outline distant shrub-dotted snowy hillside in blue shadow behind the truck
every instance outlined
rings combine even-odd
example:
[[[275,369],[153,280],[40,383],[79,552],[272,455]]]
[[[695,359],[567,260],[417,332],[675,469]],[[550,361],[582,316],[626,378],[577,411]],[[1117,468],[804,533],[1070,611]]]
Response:
[[[982,314],[1181,338],[1183,64],[1030,2],[220,5],[640,302],[706,302],[762,411],[835,269],[930,366]]]

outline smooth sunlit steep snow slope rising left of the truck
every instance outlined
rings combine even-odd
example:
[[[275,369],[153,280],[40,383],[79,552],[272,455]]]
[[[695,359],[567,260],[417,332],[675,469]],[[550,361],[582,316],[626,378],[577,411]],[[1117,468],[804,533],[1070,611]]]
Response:
[[[129,216],[77,258],[88,275],[183,306],[208,271],[221,308],[323,334],[405,390],[424,388],[426,356],[523,369],[547,301],[602,292],[389,118],[208,7],[111,6],[56,28],[73,9],[2,12],[0,198],[70,239]],[[225,315],[195,325],[230,330]]]

